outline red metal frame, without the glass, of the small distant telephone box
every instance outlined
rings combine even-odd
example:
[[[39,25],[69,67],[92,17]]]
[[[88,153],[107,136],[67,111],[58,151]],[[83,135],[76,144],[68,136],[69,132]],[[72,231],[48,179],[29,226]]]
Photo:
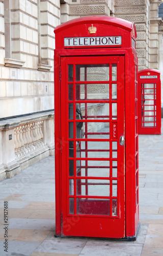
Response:
[[[141,78],[144,76],[145,78]],[[157,78],[150,78],[151,76],[157,76]],[[148,78],[149,77],[149,78]],[[160,71],[155,69],[145,69],[138,72],[138,81],[139,81],[139,134],[161,134],[161,83],[160,83]],[[144,92],[144,84],[154,84],[154,92],[153,94],[153,106],[154,110],[146,111],[151,112],[151,117],[153,117],[153,121],[145,121],[144,122],[144,103],[145,100],[142,101],[142,97],[150,94],[142,94]],[[146,90],[146,89],[145,89]],[[148,88],[147,88],[148,90]],[[156,97],[156,99],[155,99]],[[148,100],[147,100],[148,101]],[[146,105],[148,106],[148,105]],[[142,116],[143,115],[143,116]],[[146,116],[148,117],[148,116]],[[143,118],[143,120],[142,120]],[[155,120],[156,119],[156,120]],[[148,126],[144,126],[149,123]],[[150,124],[153,123],[153,127]],[[143,127],[142,127],[143,126]]]

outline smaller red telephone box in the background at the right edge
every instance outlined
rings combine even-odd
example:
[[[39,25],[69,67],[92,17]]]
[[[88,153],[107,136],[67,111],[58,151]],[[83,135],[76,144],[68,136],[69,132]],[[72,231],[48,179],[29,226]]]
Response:
[[[161,134],[160,71],[138,72],[139,134]]]

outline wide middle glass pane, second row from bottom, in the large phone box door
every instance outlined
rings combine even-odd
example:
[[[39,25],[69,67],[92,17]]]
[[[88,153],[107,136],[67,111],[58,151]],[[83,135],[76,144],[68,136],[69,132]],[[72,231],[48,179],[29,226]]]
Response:
[[[81,188],[81,189],[80,189]],[[78,196],[110,196],[110,181],[109,180],[76,180],[76,189]],[[79,191],[79,193],[78,193]]]

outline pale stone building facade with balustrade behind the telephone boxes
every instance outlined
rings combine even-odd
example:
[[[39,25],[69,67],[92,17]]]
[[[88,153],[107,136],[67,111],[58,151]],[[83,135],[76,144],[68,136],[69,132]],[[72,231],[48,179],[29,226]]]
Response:
[[[54,154],[55,27],[86,15],[134,22],[139,70],[160,70],[163,84],[160,4],[160,0],[0,0],[0,179]]]

